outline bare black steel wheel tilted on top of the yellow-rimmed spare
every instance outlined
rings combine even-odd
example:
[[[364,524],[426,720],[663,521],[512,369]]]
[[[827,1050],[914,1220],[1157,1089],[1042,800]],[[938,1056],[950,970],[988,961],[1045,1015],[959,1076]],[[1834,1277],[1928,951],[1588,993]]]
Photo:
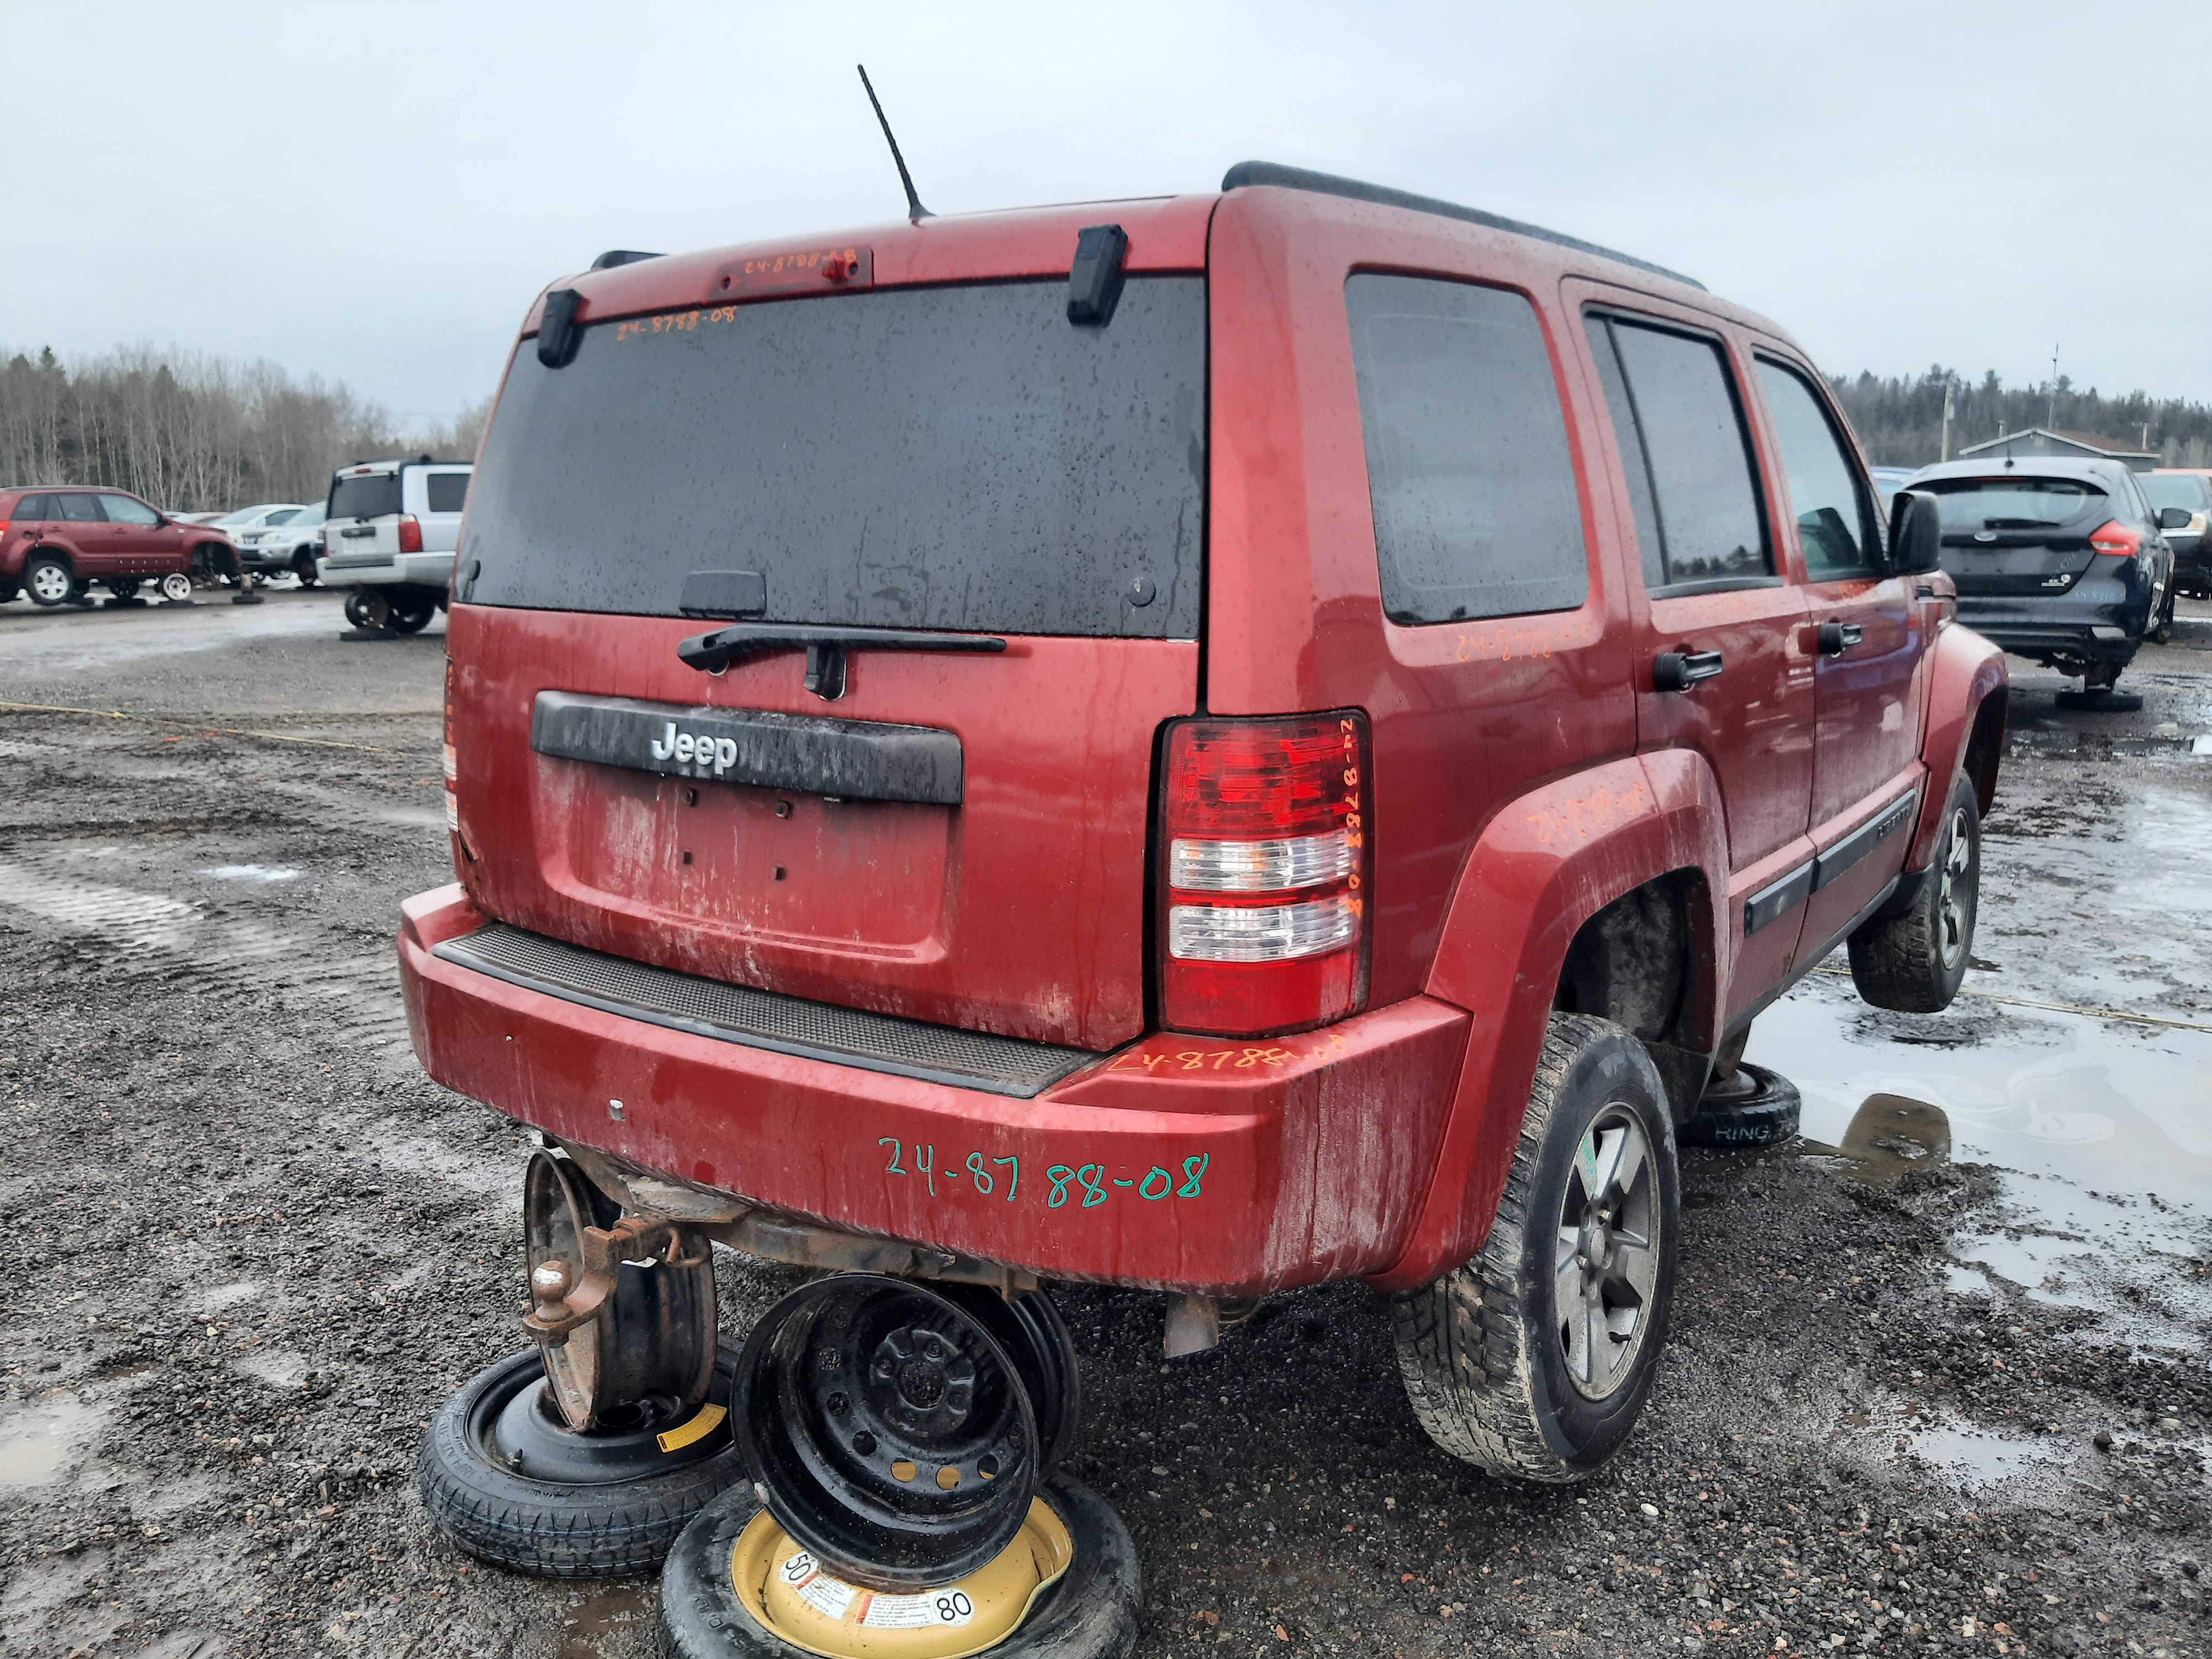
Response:
[[[754,1325],[745,1473],[838,1577],[949,1584],[1022,1528],[1044,1442],[1004,1329],[964,1292],[880,1274],[816,1279]]]

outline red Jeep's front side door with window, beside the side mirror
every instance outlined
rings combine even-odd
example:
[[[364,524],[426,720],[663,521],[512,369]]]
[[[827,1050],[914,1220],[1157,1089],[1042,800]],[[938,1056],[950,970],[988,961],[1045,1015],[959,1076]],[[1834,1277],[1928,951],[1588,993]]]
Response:
[[[1818,854],[1805,949],[1825,949],[1905,863],[1907,796],[1920,785],[1929,611],[1889,571],[1874,487],[1818,376],[1756,354],[1774,438],[1774,524],[1805,571],[1818,739],[1812,841]]]

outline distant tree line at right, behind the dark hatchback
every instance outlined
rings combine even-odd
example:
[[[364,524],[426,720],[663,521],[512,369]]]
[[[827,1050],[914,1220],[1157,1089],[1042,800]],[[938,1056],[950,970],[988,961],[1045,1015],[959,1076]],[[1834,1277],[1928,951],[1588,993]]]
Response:
[[[1924,467],[1942,458],[1942,400],[1951,394],[1951,453],[2006,431],[2048,427],[2110,438],[2121,449],[2148,449],[2161,467],[2212,467],[2212,405],[2152,398],[2146,392],[2104,396],[2073,378],[2008,387],[1995,369],[1969,380],[1933,365],[1924,374],[1834,376],[1836,398],[1876,467]]]

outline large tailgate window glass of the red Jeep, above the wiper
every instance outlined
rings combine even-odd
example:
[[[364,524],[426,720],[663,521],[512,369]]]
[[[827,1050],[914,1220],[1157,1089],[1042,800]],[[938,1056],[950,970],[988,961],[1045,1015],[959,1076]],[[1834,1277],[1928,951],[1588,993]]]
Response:
[[[757,571],[770,622],[1194,639],[1203,422],[1199,276],[1108,327],[1064,281],[597,323],[515,354],[469,599],[666,617]]]

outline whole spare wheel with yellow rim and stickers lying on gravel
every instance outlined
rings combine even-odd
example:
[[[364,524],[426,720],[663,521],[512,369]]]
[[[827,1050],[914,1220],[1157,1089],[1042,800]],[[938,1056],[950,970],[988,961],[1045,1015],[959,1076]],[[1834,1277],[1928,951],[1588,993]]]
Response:
[[[1046,1480],[1040,1500],[1066,1528],[1071,1555],[1060,1577],[1051,1579],[1029,1604],[1020,1624],[984,1650],[993,1659],[1128,1659],[1137,1648],[1137,1613],[1144,1599],[1137,1544],[1130,1540],[1128,1526],[1121,1524],[1113,1504],[1066,1475]],[[661,1568],[661,1659],[803,1659],[810,1652],[832,1650],[785,1641],[748,1606],[748,1599],[763,1599],[759,1586],[748,1586],[750,1597],[739,1593],[737,1575],[745,1564],[768,1573],[790,1568],[803,1573],[803,1582],[827,1577],[816,1573],[803,1553],[783,1555],[783,1546],[792,1551],[796,1546],[781,1531],[776,1533],[776,1553],[783,1559],[765,1564],[754,1559],[761,1540],[759,1533],[748,1540],[745,1528],[757,1517],[761,1517],[761,1502],[752,1489],[732,1486],[684,1528]],[[763,1517],[763,1522],[772,1526],[772,1520]],[[752,1548],[741,1548],[741,1544]],[[1015,1548],[1020,1546],[1018,1542]],[[889,1610],[900,1624],[902,1639],[907,1637],[907,1604],[920,1608],[918,1617],[940,1624],[942,1641],[927,1652],[978,1650],[969,1626],[978,1608],[962,1606],[967,1597],[956,1586],[905,1597],[872,1597],[867,1590],[856,1590],[852,1599],[845,1593],[854,1586],[836,1579],[827,1579],[827,1586],[834,1586],[830,1597],[816,1597],[814,1606],[838,1606],[843,1619],[832,1630],[847,1635],[852,1652],[880,1650],[869,1648],[878,1632],[867,1619],[872,1604],[883,1606],[885,1601],[891,1604]],[[942,1615],[936,1613],[938,1601],[945,1604]],[[914,1630],[914,1637],[922,1635],[931,1635],[931,1624]],[[925,1648],[905,1641],[900,1650],[925,1652]]]

